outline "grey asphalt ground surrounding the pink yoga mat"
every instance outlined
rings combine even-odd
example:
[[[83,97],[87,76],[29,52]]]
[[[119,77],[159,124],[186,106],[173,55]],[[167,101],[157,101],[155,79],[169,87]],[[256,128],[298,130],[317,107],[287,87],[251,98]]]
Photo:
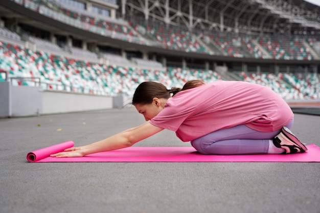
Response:
[[[320,163],[29,163],[29,151],[86,145],[144,122],[133,108],[0,119],[0,212],[320,212]],[[320,117],[295,114],[320,146]],[[167,130],[134,146],[190,146]]]

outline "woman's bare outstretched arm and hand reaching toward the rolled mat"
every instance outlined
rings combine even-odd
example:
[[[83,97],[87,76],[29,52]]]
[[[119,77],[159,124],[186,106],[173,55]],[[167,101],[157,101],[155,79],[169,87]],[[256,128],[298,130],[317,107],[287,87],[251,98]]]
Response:
[[[116,135],[100,140],[96,143],[82,147],[73,147],[66,149],[66,152],[60,152],[51,155],[51,157],[82,157],[97,152],[105,152],[116,149],[131,147],[133,144],[147,137],[162,131],[163,128],[156,127],[149,122],[135,128],[130,128]]]

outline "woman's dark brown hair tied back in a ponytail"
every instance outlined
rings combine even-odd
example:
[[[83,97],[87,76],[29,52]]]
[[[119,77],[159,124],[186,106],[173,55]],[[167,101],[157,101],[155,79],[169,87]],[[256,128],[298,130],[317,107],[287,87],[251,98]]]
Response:
[[[141,83],[138,87],[136,87],[133,98],[132,105],[135,104],[150,104],[152,103],[153,98],[164,98],[169,99],[170,93],[172,93],[172,97],[175,96],[179,91],[192,89],[194,87],[198,87],[203,85],[204,82],[200,80],[191,80],[188,81],[184,87],[172,87],[171,89],[167,89],[165,85],[157,82],[146,81]]]

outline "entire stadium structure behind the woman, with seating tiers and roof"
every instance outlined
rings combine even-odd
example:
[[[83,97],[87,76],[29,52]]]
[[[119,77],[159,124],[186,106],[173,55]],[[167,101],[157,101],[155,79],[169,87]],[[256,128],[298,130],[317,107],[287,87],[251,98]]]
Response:
[[[31,87],[130,100],[144,81],[235,80],[320,99],[320,7],[303,0],[2,0],[0,16],[0,116]]]

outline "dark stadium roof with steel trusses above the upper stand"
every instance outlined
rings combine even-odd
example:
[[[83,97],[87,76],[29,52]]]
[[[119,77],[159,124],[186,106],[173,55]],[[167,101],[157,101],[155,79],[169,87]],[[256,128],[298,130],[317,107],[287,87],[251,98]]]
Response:
[[[123,17],[190,30],[319,34],[320,7],[303,0],[125,0]]]

